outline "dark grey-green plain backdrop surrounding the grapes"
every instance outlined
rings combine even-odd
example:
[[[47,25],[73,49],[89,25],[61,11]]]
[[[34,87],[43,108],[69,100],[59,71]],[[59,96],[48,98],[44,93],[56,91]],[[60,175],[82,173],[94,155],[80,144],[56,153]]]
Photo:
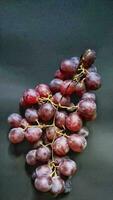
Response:
[[[7,116],[18,111],[24,89],[49,83],[63,58],[86,48],[97,52],[103,80],[98,117],[88,124],[86,151],[75,156],[72,192],[58,199],[112,200],[113,1],[0,1],[0,200],[53,199],[32,187],[24,155],[9,145]]]

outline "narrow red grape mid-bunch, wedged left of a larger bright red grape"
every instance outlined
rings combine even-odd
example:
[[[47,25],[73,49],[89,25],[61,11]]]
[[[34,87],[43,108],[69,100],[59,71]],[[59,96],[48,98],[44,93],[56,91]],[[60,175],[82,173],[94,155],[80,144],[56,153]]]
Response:
[[[59,128],[64,128],[66,125],[66,116],[67,113],[65,111],[56,111],[55,113],[55,124]]]

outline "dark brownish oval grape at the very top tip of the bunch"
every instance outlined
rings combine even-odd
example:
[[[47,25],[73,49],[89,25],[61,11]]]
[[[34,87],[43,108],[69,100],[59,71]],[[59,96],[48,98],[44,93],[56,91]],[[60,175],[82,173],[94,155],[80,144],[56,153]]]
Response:
[[[81,58],[81,62],[83,63],[84,68],[89,68],[96,59],[96,53],[94,50],[88,49],[85,51]]]

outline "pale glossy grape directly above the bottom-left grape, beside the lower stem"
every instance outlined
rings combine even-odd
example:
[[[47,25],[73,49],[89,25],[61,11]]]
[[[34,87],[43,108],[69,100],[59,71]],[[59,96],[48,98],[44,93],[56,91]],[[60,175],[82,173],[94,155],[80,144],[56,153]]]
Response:
[[[42,176],[50,176],[52,174],[52,169],[46,164],[46,165],[41,165],[36,168],[36,177],[41,178]]]

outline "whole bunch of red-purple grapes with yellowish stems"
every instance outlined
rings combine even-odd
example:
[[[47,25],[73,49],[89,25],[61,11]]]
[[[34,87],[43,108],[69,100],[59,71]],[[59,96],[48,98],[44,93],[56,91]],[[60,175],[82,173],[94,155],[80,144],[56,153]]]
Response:
[[[84,122],[96,118],[96,97],[90,91],[100,88],[101,77],[93,65],[95,58],[89,49],[80,58],[61,62],[49,85],[39,84],[23,93],[23,114],[8,117],[10,142],[31,144],[26,162],[36,166],[32,179],[38,191],[54,195],[70,191],[77,164],[67,154],[84,151],[89,135]],[[79,97],[76,105],[73,94],[73,99]]]

